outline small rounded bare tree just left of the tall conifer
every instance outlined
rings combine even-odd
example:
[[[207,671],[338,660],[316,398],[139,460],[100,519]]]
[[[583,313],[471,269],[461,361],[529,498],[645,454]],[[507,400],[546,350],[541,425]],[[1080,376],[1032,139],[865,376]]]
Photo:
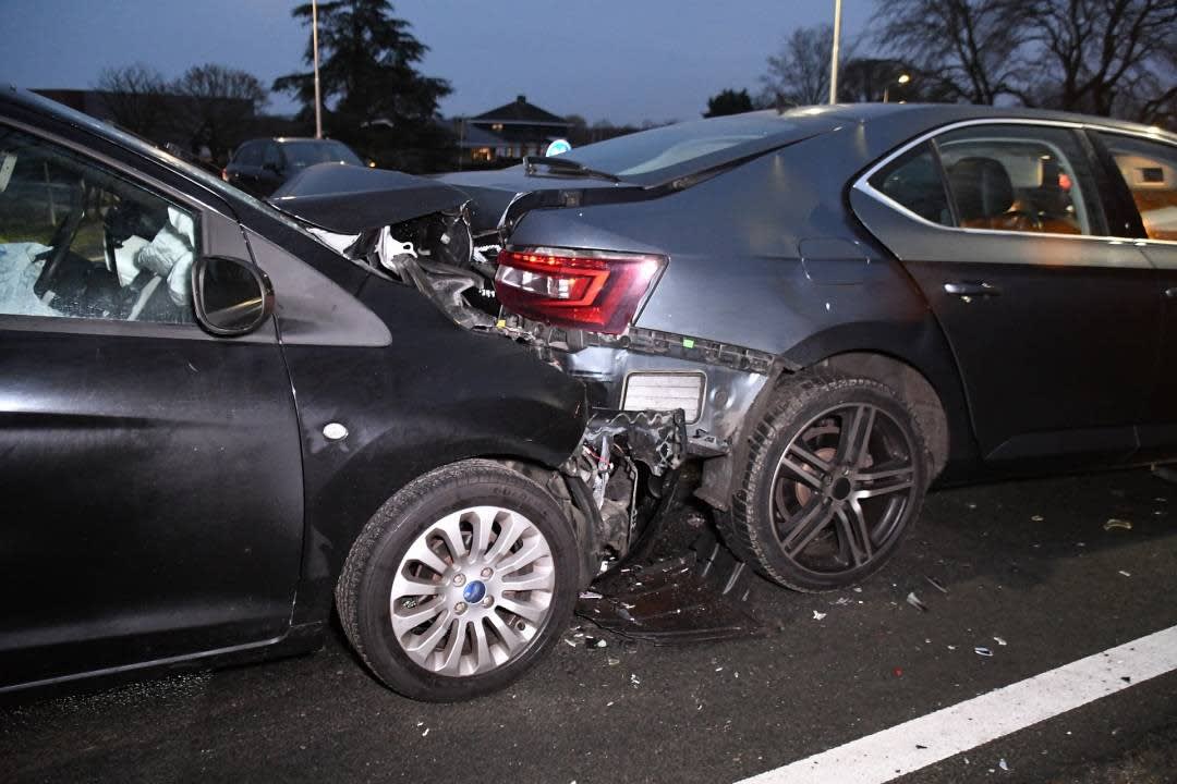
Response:
[[[248,132],[254,114],[268,100],[255,76],[214,63],[193,66],[172,83],[178,127],[195,145],[207,145],[213,154],[235,146]]]

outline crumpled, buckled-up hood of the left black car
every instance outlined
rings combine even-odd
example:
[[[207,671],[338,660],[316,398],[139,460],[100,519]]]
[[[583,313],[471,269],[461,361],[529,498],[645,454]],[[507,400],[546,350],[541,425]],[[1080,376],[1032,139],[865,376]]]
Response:
[[[453,186],[388,169],[339,163],[310,166],[282,185],[270,203],[319,228],[360,234],[470,200]]]

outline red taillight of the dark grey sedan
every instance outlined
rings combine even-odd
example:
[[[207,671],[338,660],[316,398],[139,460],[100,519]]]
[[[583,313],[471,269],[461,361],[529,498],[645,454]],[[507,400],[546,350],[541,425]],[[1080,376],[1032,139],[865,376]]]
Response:
[[[520,316],[617,335],[630,326],[664,262],[598,250],[504,249],[494,293]]]

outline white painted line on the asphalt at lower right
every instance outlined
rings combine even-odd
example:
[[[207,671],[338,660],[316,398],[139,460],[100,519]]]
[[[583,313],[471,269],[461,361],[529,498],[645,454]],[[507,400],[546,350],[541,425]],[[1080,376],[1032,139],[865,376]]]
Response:
[[[1177,626],[738,784],[883,784],[1173,670]]]

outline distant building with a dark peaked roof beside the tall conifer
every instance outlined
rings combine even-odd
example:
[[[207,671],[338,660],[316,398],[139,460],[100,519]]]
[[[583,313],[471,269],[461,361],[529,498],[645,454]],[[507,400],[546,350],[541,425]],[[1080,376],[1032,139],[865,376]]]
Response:
[[[454,121],[465,165],[493,166],[543,155],[556,139],[566,139],[572,123],[527,102],[526,95],[472,118]]]

